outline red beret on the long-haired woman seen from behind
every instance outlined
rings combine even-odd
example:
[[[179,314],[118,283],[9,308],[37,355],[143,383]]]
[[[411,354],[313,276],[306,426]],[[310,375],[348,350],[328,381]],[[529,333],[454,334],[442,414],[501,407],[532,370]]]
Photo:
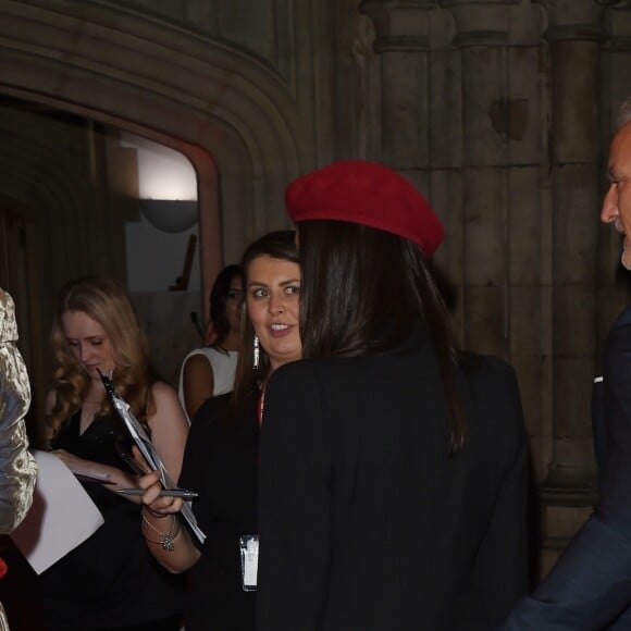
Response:
[[[294,223],[347,221],[405,237],[428,257],[445,230],[426,199],[398,173],[366,160],[345,160],[298,177],[285,191]]]

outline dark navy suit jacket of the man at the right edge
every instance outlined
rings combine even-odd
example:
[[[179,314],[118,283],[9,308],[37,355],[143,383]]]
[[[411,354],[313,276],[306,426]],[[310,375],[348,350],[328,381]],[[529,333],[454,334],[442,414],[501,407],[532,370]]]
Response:
[[[614,323],[603,359],[592,400],[598,505],[505,631],[631,629],[631,307]]]

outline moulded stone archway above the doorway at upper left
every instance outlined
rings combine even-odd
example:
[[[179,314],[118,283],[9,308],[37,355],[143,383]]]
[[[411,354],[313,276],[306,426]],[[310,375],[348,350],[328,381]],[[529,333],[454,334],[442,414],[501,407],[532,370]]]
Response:
[[[209,290],[222,255],[284,225],[298,172],[292,89],[253,55],[109,5],[10,2],[0,22],[0,92],[46,103],[177,149],[199,178]]]

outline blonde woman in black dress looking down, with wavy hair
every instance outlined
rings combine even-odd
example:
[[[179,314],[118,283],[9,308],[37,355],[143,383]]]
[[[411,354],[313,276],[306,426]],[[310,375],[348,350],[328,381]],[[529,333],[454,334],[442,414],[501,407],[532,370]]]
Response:
[[[113,280],[85,277],[63,287],[51,341],[59,368],[47,400],[50,448],[70,469],[108,483],[84,482],[103,525],[40,577],[47,629],[176,631],[181,581],[148,554],[138,498],[116,493],[136,486],[137,475],[128,463],[131,438],[99,372],[111,375],[176,480],[188,425],[175,391],[152,375],[145,334]]]

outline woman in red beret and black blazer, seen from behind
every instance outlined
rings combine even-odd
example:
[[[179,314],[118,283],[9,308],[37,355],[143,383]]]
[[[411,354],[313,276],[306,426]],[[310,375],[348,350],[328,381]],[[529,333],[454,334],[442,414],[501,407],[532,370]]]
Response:
[[[405,178],[338,162],[286,205],[305,359],[265,394],[258,629],[492,629],[527,590],[515,372],[456,348],[443,226]]]

